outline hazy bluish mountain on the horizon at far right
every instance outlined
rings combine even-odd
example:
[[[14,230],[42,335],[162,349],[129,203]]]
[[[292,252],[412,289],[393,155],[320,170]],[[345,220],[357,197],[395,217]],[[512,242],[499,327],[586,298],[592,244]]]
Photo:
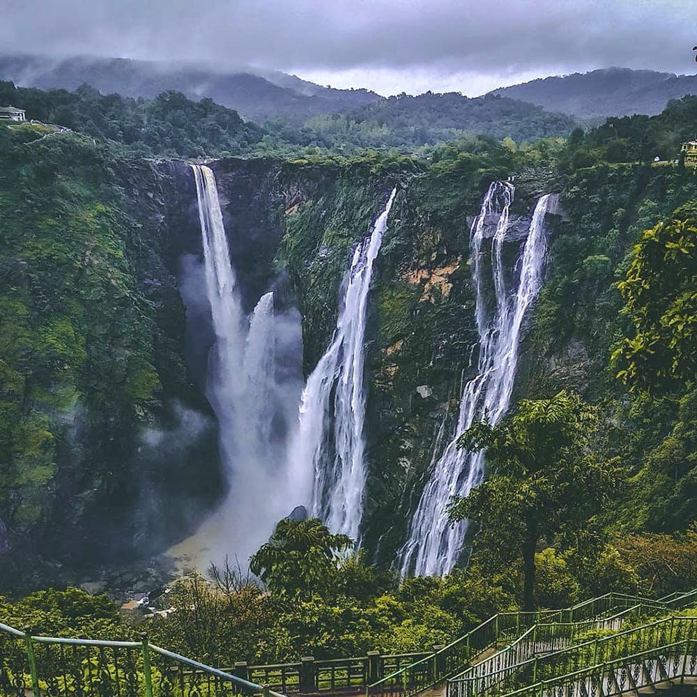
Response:
[[[606,68],[544,77],[492,93],[581,118],[654,116],[663,111],[668,100],[697,95],[697,75]]]

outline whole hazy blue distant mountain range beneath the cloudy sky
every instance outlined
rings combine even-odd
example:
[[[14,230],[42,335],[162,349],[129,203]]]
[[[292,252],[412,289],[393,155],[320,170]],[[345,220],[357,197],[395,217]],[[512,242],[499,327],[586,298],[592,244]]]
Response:
[[[89,84],[102,94],[134,98],[176,90],[192,100],[211,98],[261,125],[275,120],[293,128],[307,124],[298,142],[317,139],[317,144],[340,146],[346,131],[369,147],[433,144],[461,132],[516,140],[565,135],[579,123],[596,125],[608,116],[659,114],[668,100],[697,94],[697,75],[608,68],[537,79],[474,99],[431,92],[385,98],[249,66],[223,72],[183,63],[29,54],[0,56],[0,79],[44,90]],[[341,114],[345,123],[327,120],[325,114]],[[385,127],[391,131],[387,141],[380,135]]]

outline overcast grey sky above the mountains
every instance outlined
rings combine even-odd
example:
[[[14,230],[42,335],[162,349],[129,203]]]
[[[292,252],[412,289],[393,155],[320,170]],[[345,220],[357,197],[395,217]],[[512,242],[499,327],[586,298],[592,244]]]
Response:
[[[695,72],[697,0],[0,0],[0,52],[251,64],[388,95]]]

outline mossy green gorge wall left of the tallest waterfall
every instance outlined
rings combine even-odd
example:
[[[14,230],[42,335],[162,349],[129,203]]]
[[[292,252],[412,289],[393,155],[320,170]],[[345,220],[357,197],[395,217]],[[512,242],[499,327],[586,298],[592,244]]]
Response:
[[[160,551],[215,505],[220,472],[215,420],[186,360],[178,260],[200,243],[181,171],[77,136],[8,140],[0,578],[10,589]]]

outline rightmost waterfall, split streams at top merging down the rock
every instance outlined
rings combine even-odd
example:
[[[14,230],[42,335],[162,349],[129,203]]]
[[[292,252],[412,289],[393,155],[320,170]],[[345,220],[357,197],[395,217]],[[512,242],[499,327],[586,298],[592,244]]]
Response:
[[[557,201],[556,194],[545,194],[537,201],[514,268],[518,282],[515,289],[508,290],[503,243],[513,196],[512,183],[493,182],[470,231],[475,319],[480,337],[477,374],[464,385],[452,438],[432,466],[414,512],[409,537],[401,551],[401,573],[405,576],[410,573],[442,576],[457,563],[467,523],[451,526],[446,508],[452,496],[466,496],[484,477],[482,452],[458,450],[457,436],[484,413],[496,424],[510,406],[523,317],[542,286],[546,252],[544,216],[554,210]],[[490,311],[484,288],[489,279],[484,277],[482,244],[494,217],[498,219],[491,240],[491,282],[496,306]]]

